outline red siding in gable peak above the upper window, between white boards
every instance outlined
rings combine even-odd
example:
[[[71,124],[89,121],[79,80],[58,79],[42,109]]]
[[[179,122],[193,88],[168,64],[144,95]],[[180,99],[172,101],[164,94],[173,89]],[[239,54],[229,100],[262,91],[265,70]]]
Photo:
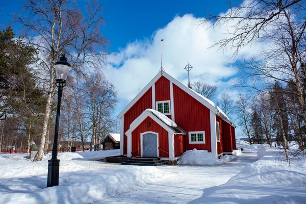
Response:
[[[164,76],[155,83],[155,101],[163,100],[170,100],[170,81]],[[171,115],[167,117],[171,119]]]

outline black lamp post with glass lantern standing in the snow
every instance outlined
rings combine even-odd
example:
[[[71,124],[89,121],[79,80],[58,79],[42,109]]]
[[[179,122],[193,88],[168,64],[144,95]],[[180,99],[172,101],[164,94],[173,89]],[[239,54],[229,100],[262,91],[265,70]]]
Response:
[[[66,79],[71,69],[70,64],[67,62],[65,54],[60,57],[60,60],[54,64],[56,72],[56,83],[58,87],[58,105],[56,110],[56,122],[54,132],[54,142],[52,148],[52,158],[48,160],[48,179],[47,187],[59,185],[59,173],[60,173],[60,160],[57,159],[57,145],[58,145],[58,133],[59,133],[59,121],[61,111],[61,98],[63,93],[63,87],[66,86]]]

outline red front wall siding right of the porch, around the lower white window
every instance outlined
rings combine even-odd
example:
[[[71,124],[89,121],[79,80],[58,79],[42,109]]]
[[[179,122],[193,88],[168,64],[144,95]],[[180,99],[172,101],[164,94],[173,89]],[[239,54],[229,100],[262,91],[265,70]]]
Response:
[[[193,148],[211,151],[210,110],[173,84],[175,123],[186,132],[184,151]],[[189,131],[205,131],[205,144],[189,144]]]

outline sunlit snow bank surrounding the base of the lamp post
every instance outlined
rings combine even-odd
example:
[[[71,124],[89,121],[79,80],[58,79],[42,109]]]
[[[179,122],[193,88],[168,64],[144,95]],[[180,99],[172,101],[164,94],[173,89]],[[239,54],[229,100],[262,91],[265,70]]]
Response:
[[[112,154],[108,151],[99,154]],[[138,190],[164,180],[165,176],[171,179],[171,173],[165,174],[156,167],[84,161],[84,157],[92,158],[89,156],[92,152],[82,153],[83,156],[78,152],[59,154],[60,182],[51,188],[46,188],[48,158],[31,162],[21,154],[7,158],[0,155],[0,203],[94,203]]]

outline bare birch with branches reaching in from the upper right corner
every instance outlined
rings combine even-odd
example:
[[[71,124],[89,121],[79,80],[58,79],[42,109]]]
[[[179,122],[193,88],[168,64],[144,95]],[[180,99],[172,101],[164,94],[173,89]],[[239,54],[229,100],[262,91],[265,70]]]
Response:
[[[236,6],[230,1],[228,5],[224,14],[210,14],[201,22],[212,27],[227,27],[226,37],[214,46],[221,50],[230,49],[237,56],[241,48],[252,43],[263,42],[266,45],[259,55],[245,59],[241,68],[243,77],[237,85],[258,90],[261,81],[272,79],[290,83],[293,79],[306,121],[305,93],[298,74],[306,54],[306,2],[250,0]]]

